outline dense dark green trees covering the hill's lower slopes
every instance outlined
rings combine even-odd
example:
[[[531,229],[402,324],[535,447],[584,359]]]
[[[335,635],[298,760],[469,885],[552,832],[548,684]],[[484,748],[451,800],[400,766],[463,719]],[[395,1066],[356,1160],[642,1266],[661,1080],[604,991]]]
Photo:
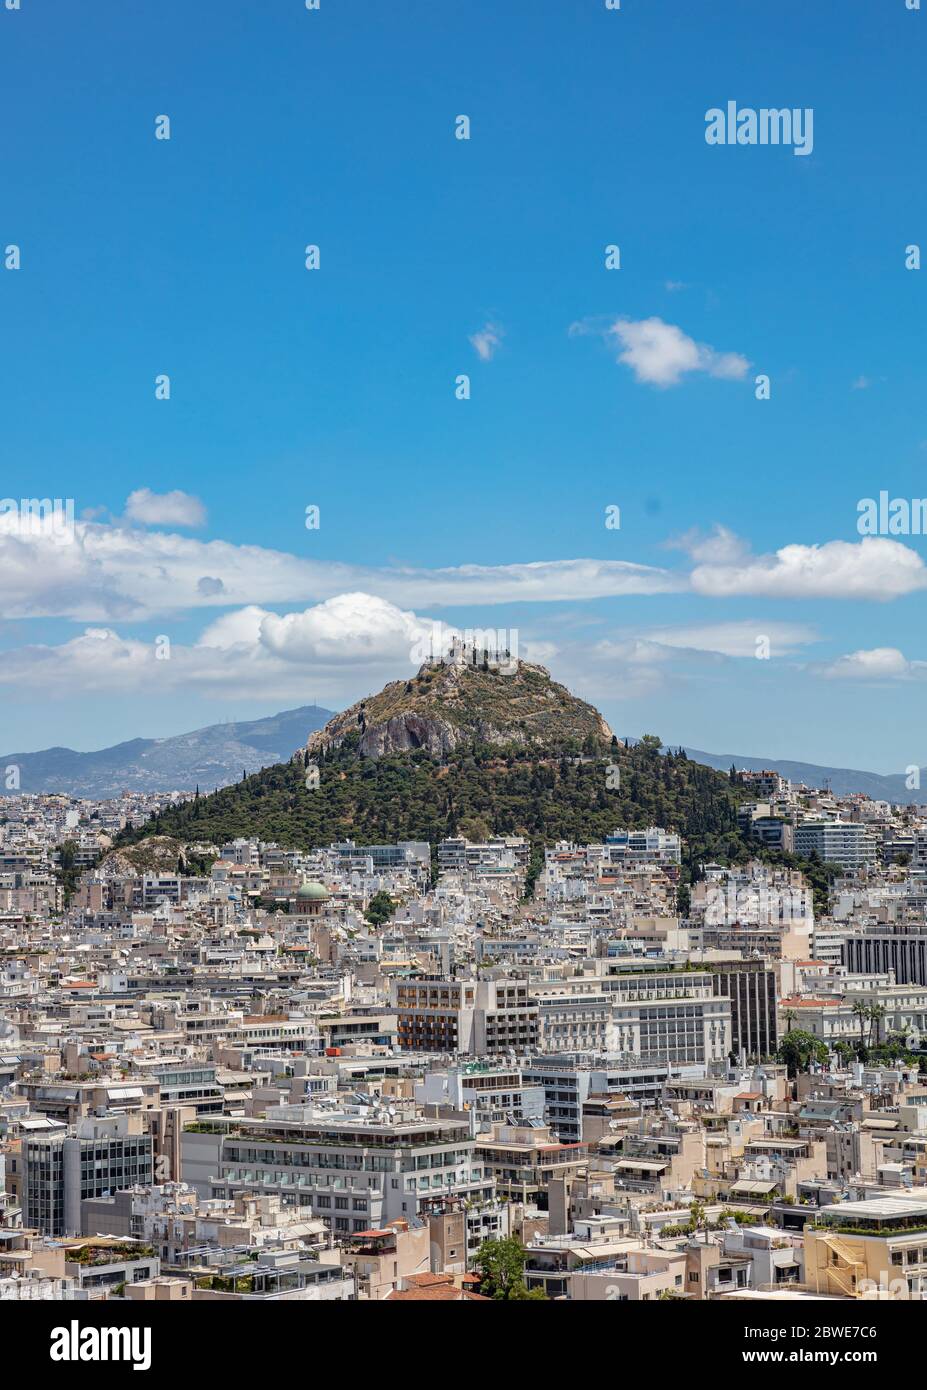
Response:
[[[357,844],[424,840],[434,847],[453,834],[525,835],[532,845],[525,892],[531,897],[545,845],[596,842],[617,826],[663,826],[684,838],[682,910],[687,884],[709,862],[760,858],[801,869],[820,895],[819,910],[834,873],[831,866],[745,840],[737,824],[744,788],[725,773],[692,762],[682,749],[664,751],[653,735],[630,746],[589,735],[542,752],[473,744],[443,762],[424,749],[361,758],[357,741],[352,733],[341,748],[317,755],[317,787],[306,785],[302,759],[278,763],[170,808],[125,833],[120,844],[170,835],[186,845],[222,845],[245,835],[293,848],[346,838]]]

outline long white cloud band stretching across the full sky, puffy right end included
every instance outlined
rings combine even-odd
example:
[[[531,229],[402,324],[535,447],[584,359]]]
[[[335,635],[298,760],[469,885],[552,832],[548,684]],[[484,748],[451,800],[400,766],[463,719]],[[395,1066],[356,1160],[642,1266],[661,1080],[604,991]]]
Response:
[[[63,527],[39,518],[24,527],[0,513],[0,619],[120,624],[199,609],[240,613],[318,605],[353,592],[420,610],[687,591],[710,598],[889,599],[927,587],[920,556],[878,537],[788,545],[753,556],[742,539],[716,527],[710,535],[689,532],[670,545],[688,552],[691,573],[595,559],[374,569],[125,524],[79,520]]]

